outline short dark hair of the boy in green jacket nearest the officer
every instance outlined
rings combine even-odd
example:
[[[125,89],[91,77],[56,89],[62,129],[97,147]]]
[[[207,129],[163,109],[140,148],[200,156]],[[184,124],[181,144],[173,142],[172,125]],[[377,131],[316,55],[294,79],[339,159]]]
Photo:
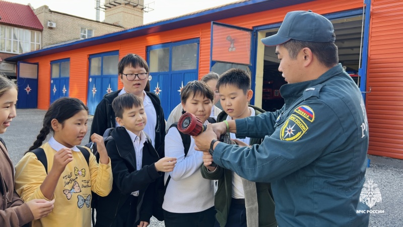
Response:
[[[220,88],[232,85],[238,89],[242,89],[243,93],[246,95],[248,90],[250,90],[250,77],[249,74],[240,68],[231,68],[220,75],[217,81],[217,89],[220,92]]]

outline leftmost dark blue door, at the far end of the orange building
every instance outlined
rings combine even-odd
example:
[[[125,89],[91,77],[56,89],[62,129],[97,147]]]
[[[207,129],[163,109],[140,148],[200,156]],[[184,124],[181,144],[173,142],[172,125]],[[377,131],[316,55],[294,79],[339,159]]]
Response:
[[[38,107],[38,63],[18,62],[17,108]]]

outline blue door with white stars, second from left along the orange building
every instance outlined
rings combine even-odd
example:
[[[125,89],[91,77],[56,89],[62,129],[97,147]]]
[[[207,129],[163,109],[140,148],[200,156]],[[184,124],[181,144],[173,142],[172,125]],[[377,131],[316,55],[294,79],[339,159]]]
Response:
[[[50,104],[60,97],[69,97],[70,58],[50,62]]]

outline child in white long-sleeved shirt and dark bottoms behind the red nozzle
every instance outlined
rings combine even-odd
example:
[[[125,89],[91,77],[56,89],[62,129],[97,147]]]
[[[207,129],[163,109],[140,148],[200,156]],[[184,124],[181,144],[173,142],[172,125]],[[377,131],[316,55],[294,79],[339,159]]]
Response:
[[[214,92],[205,82],[187,83],[182,89],[180,99],[184,111],[194,114],[201,122],[207,122]],[[185,156],[185,147],[178,129],[169,128],[165,136],[165,155],[177,159],[175,169],[169,173],[171,179],[162,204],[165,226],[213,227],[216,213],[214,182],[201,176],[203,153],[194,149],[192,137],[189,140],[190,146]],[[168,173],[165,174],[165,181],[167,179]]]

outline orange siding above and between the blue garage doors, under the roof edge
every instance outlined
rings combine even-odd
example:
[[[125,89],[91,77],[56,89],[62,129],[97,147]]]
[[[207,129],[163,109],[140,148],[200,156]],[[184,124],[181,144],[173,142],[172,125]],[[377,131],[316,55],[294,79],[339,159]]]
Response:
[[[287,12],[293,10],[312,10],[319,14],[329,14],[351,9],[360,9],[362,8],[362,5],[362,0],[318,0],[290,7],[283,7],[275,10],[223,19],[218,22],[251,29],[255,26],[279,23],[283,20]],[[86,103],[88,89],[88,57],[90,54],[119,50],[119,58],[123,57],[127,53],[136,53],[146,58],[147,46],[167,42],[177,42],[192,38],[200,39],[198,78],[201,78],[210,70],[211,23],[183,27],[180,29],[149,34],[147,36],[129,38],[107,44],[95,45],[62,53],[31,58],[27,61],[39,63],[38,108],[47,109],[49,106],[49,62],[51,60],[70,57],[70,97],[79,98]],[[120,82],[118,88],[122,88],[122,84]]]

